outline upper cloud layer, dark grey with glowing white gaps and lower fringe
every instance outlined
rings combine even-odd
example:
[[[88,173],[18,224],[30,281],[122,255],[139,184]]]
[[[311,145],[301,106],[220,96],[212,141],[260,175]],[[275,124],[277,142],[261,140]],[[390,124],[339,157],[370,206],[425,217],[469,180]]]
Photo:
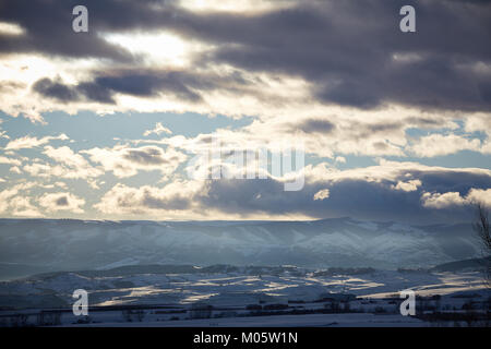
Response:
[[[313,105],[358,109],[403,105],[469,112],[491,108],[488,2],[418,2],[421,31],[415,35],[398,29],[404,1],[253,3],[243,2],[240,12],[217,4],[203,11],[203,5],[189,1],[147,0],[135,5],[128,0],[104,4],[87,0],[85,5],[96,15],[91,15],[91,31],[80,34],[68,25],[76,1],[62,5],[5,1],[0,21],[21,27],[23,34],[3,35],[0,55],[69,57],[81,68],[77,73],[70,69],[60,73],[71,84],[53,76],[31,81],[34,91],[52,99],[49,106],[36,100],[36,112],[52,104],[63,110],[73,110],[73,105],[98,111],[142,110],[143,106],[148,110],[147,99],[163,96],[166,103],[155,101],[153,110],[235,116],[238,109],[243,115],[256,115],[255,110],[265,115],[279,105],[294,115]],[[200,49],[185,51],[180,69],[163,70],[147,59],[155,46],[137,53],[110,39],[145,37],[145,33],[169,35]],[[38,115],[27,112],[33,110],[29,104],[15,103],[9,111],[22,107],[38,120]],[[312,124],[304,129],[330,130],[325,122],[319,129]]]

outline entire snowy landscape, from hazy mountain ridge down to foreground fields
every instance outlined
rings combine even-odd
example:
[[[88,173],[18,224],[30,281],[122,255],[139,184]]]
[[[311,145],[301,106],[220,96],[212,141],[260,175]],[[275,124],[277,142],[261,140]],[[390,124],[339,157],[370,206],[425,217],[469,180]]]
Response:
[[[469,234],[468,225],[351,218],[0,219],[0,325],[422,326],[433,313],[482,321],[490,293],[469,260],[480,251]],[[76,289],[88,292],[87,318],[72,314]],[[417,318],[399,314],[407,289]]]

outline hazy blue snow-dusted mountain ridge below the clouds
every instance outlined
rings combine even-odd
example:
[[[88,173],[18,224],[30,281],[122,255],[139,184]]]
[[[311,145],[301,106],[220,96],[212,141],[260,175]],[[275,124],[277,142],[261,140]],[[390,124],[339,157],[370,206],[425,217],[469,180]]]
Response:
[[[393,269],[479,255],[470,225],[0,219],[0,278],[136,264]]]

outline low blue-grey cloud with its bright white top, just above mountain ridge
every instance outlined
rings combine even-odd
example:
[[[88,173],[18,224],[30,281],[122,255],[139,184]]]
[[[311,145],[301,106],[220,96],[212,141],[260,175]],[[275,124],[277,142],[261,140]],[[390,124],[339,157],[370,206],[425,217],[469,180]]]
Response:
[[[382,163],[349,170],[336,170],[325,165],[308,166],[304,174],[306,185],[299,192],[283,192],[282,183],[273,179],[212,181],[206,195],[202,197],[202,204],[203,207],[215,207],[226,213],[238,212],[243,217],[268,213],[272,216],[350,216],[410,222],[434,222],[445,217],[443,221],[458,221],[468,219],[466,209],[453,207],[444,216],[438,216],[431,209],[431,204],[428,206],[421,203],[422,193],[448,189],[468,192],[470,189],[491,188],[489,170],[445,169],[411,163]],[[414,182],[408,183],[408,180]],[[418,181],[420,185],[417,185]],[[412,190],[414,186],[418,186],[417,190]],[[328,189],[328,200],[314,200],[325,189]],[[260,198],[256,198],[258,195]]]

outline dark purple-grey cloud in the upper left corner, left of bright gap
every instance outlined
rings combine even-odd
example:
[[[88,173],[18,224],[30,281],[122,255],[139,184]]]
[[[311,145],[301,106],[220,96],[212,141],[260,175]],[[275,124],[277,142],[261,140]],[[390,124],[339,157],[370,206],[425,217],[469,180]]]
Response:
[[[72,9],[76,1],[63,3],[35,1],[3,1],[0,21],[14,23],[23,28],[23,34],[15,36],[2,35],[0,52],[43,52],[47,55],[70,58],[107,58],[112,60],[131,60],[132,57],[123,47],[110,45],[97,35],[100,28],[98,17],[109,20],[111,11],[121,10],[120,16],[128,17],[149,11],[148,7],[136,7],[131,1],[109,1],[105,4],[97,1],[85,1],[91,16],[91,31],[77,35],[71,28]],[[26,9],[28,9],[26,11]],[[142,11],[143,10],[143,11]],[[140,17],[144,21],[144,17]],[[115,21],[112,21],[113,23]],[[121,23],[122,24],[122,23]],[[116,25],[116,23],[115,23]],[[53,40],[52,38],[57,39]]]

